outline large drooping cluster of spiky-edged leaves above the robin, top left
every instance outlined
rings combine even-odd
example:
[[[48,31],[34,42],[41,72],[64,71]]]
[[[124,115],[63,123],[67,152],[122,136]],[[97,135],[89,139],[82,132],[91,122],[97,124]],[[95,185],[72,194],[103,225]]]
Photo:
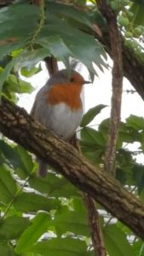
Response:
[[[32,70],[49,55],[63,61],[67,68],[70,68],[71,56],[83,62],[90,73],[95,73],[93,62],[102,69],[106,65],[105,51],[95,37],[87,33],[93,28],[95,12],[90,13],[89,9],[82,12],[72,5],[49,0],[40,7],[18,1],[0,9],[0,66],[4,66],[0,90],[9,73],[18,72],[22,67]]]

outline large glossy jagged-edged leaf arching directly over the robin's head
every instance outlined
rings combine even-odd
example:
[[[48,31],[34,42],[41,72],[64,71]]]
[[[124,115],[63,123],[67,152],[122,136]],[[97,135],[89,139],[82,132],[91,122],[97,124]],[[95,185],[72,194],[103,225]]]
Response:
[[[49,15],[47,22],[49,25],[43,27],[39,38],[37,39],[39,44],[41,44],[41,40],[42,38],[45,38],[46,34],[49,35],[47,36],[48,44],[49,38],[55,38],[56,35],[57,38],[61,38],[63,45],[66,45],[67,49],[71,53],[70,56],[74,56],[79,61],[82,61],[92,73],[95,73],[95,69],[92,65],[93,61],[99,68],[106,66],[105,62],[101,58],[101,55],[105,55],[104,50],[101,44],[98,41],[95,41],[94,37],[78,30],[77,28],[69,26],[66,20],[60,20],[54,16]],[[73,37],[73,35],[75,36]],[[58,47],[59,46],[57,46],[57,49]],[[67,51],[66,55],[68,55]]]

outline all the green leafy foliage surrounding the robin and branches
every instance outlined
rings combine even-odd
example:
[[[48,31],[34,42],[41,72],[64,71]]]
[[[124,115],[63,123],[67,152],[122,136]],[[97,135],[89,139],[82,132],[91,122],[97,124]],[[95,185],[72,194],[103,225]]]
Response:
[[[89,5],[86,5],[86,2]],[[144,18],[143,1],[112,0],[125,44],[143,60],[140,44]],[[72,4],[45,1],[41,7],[29,1],[14,1],[0,9],[0,91],[17,102],[20,93],[33,88],[21,79],[41,71],[36,67],[48,55],[55,55],[70,67],[69,57],[83,62],[90,73],[106,66],[106,52],[95,40],[95,23],[107,27],[93,1]],[[84,12],[83,9],[87,11]],[[136,38],[136,41],[135,41]],[[3,89],[3,90],[2,90]],[[80,145],[84,156],[95,166],[103,166],[109,119],[97,127],[90,122],[105,105],[85,113],[81,123]],[[129,145],[139,143],[138,152]],[[117,144],[117,178],[136,196],[144,198],[144,166],[136,154],[144,151],[144,119],[131,115],[120,123]],[[103,209],[101,229],[110,256],[142,256],[143,242]],[[37,176],[32,154],[5,137],[0,140],[0,251],[2,255],[62,256],[94,255],[91,247],[87,212],[80,191],[49,168],[47,177]],[[106,217],[106,218],[105,218]],[[122,246],[123,244],[123,246]]]

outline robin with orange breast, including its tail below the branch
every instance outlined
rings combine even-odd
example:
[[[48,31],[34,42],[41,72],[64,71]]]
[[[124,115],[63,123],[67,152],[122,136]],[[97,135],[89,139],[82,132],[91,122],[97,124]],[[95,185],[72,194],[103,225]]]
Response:
[[[50,77],[37,93],[31,114],[49,131],[65,141],[71,140],[80,125],[83,106],[81,91],[83,84],[88,84],[76,71],[70,77],[66,69],[60,70]],[[43,160],[38,161],[38,173],[44,177],[48,166]]]

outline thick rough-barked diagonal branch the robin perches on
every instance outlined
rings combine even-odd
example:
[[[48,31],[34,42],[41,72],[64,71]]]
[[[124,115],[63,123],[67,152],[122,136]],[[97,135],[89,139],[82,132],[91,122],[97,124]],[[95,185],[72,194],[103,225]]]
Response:
[[[79,189],[91,195],[113,216],[144,239],[144,205],[118,181],[90,165],[68,143],[53,137],[24,109],[7,100],[0,105],[0,131],[3,135],[43,158]]]

